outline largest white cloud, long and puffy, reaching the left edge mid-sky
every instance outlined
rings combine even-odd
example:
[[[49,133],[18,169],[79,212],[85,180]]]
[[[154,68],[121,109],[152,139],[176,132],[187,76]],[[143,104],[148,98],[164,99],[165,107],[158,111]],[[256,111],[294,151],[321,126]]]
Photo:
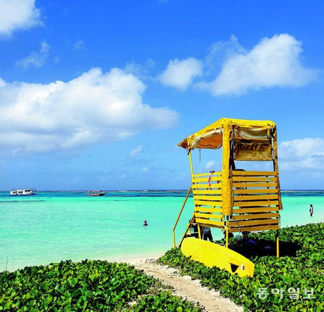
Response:
[[[118,68],[49,84],[0,79],[0,144],[16,153],[48,152],[174,126],[176,112],[143,103],[145,88]]]

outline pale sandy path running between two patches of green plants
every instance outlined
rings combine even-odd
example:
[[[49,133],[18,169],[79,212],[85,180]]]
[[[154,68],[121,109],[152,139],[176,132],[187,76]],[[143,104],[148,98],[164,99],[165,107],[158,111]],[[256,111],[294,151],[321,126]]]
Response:
[[[175,268],[156,264],[156,259],[135,260],[129,262],[135,268],[144,270],[148,275],[168,284],[174,288],[173,293],[191,302],[199,302],[207,311],[241,312],[243,308],[234,302],[219,295],[219,292],[209,290],[200,285],[199,280],[180,276]]]

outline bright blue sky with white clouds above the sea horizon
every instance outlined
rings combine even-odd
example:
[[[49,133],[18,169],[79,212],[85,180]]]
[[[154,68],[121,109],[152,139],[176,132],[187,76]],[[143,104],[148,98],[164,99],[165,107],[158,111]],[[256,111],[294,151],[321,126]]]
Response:
[[[0,190],[188,189],[177,143],[222,117],[273,120],[281,188],[324,189],[323,16],[321,1],[0,0]],[[192,157],[221,169],[221,150]]]

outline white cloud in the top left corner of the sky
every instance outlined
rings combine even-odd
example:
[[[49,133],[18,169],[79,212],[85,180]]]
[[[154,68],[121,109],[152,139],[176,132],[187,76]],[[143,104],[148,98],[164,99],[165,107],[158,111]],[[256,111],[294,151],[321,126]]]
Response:
[[[8,37],[17,29],[42,25],[35,0],[0,0],[0,36]]]

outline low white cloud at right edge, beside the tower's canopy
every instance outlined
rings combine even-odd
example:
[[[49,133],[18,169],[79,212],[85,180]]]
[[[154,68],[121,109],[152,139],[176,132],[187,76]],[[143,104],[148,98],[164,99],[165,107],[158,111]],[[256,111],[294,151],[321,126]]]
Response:
[[[281,142],[278,157],[280,169],[324,169],[324,139],[308,137]]]

